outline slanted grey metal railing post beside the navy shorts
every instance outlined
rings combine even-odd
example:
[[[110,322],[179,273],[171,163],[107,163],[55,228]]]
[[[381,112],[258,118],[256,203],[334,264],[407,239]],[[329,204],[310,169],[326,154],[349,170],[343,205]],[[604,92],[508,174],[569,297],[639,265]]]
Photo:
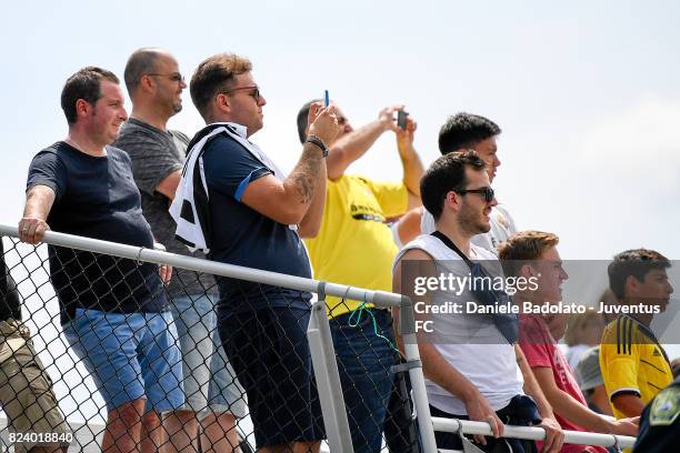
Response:
[[[319,282],[318,300],[312,303],[307,329],[314,379],[321,401],[323,425],[331,453],[353,453],[352,436],[347,421],[340,373],[326,311],[324,282]]]

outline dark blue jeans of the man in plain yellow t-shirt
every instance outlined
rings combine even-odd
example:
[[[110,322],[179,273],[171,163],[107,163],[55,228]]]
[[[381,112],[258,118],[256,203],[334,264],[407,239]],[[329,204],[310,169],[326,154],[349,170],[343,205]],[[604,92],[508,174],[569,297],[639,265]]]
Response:
[[[372,310],[378,332],[394,343],[391,316],[387,310]],[[396,364],[394,351],[376,335],[373,320],[362,313],[359,324],[349,325],[351,313],[330,320],[338,359],[340,382],[356,453],[380,452],[387,407]],[[357,321],[358,313],[352,321]]]

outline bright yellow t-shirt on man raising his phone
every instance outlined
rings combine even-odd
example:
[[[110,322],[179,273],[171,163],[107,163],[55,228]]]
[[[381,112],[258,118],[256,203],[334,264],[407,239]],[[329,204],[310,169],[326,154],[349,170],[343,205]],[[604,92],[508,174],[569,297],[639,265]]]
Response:
[[[408,205],[402,182],[373,182],[342,175],[328,181],[319,234],[306,239],[314,279],[369,290],[391,291],[391,265],[397,245],[386,218],[401,215]],[[328,296],[329,315],[339,316],[359,302]]]

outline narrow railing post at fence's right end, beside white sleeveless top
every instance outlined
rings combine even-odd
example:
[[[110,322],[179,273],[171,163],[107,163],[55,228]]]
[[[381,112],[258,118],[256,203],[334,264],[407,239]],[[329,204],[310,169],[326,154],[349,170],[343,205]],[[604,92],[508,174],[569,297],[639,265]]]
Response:
[[[420,362],[420,351],[418,350],[418,338],[416,335],[416,311],[410,298],[401,298],[400,313],[400,334],[403,342],[403,352],[407,362]],[[411,389],[413,392],[413,404],[418,416],[418,427],[420,429],[420,442],[424,453],[437,453],[437,442],[434,441],[434,426],[432,415],[430,415],[430,404],[424,385],[422,366],[414,366],[409,370]]]

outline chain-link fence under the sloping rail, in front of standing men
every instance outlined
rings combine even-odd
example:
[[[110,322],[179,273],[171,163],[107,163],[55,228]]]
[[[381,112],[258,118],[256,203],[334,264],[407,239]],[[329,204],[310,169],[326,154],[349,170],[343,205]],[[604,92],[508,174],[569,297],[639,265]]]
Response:
[[[322,450],[420,451],[407,374],[422,374],[399,365],[387,310],[400,296],[54,232],[39,246],[14,228],[0,233],[4,446],[314,451],[326,439]],[[246,306],[226,306],[214,283],[170,295],[167,264],[176,285],[229,278]],[[326,294],[362,304],[329,323]]]

